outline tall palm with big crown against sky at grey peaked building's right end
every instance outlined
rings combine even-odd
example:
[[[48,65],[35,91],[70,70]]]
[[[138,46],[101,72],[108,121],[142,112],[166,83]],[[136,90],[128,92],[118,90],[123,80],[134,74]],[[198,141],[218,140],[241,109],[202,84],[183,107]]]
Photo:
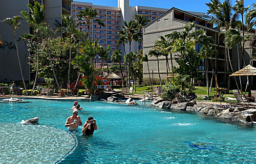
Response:
[[[209,17],[209,22],[217,24],[218,28],[224,28],[225,32],[238,24],[238,13],[233,14],[233,8],[231,6],[230,0],[225,0],[221,3],[219,0],[211,0],[210,3],[206,3],[209,10],[207,10],[207,15]],[[225,50],[226,54],[226,67],[227,67],[227,89],[230,88],[230,77],[229,77],[229,57],[228,48]]]

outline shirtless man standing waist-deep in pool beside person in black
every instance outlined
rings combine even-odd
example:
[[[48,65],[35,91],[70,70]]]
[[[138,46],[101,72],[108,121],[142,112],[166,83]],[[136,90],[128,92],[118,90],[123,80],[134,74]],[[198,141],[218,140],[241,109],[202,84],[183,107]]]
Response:
[[[78,132],[78,126],[82,126],[82,121],[78,116],[78,111],[74,110],[73,115],[68,117],[65,127],[69,127],[69,131]]]

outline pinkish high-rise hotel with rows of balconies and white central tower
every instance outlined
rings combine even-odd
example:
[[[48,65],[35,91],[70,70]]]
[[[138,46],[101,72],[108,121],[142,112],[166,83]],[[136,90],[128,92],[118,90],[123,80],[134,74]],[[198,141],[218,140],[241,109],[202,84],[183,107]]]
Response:
[[[136,14],[144,14],[146,18],[154,20],[168,10],[145,6],[131,7],[129,5],[129,0],[118,0],[117,4],[117,7],[99,6],[93,5],[92,3],[78,1],[74,1],[71,4],[71,15],[76,19],[76,22],[79,23],[78,29],[84,32],[88,32],[87,25],[82,24],[82,20],[77,18],[77,14],[85,8],[94,8],[96,11],[98,11],[99,14],[95,18],[101,19],[105,24],[105,27],[92,20],[92,24],[90,26],[90,35],[93,40],[99,40],[98,43],[104,48],[108,46],[111,47],[109,56],[111,56],[111,54],[118,49],[122,50],[122,54],[124,55],[123,46],[116,44],[120,37],[117,32],[122,29],[124,21],[130,21]],[[142,49],[142,47],[143,43],[141,43],[140,49]],[[133,41],[131,50],[136,51],[138,49],[139,42],[136,43]],[[126,53],[129,52],[129,46],[125,47],[125,51]],[[96,58],[98,58],[98,56]],[[110,61],[108,61],[108,63],[110,63]]]

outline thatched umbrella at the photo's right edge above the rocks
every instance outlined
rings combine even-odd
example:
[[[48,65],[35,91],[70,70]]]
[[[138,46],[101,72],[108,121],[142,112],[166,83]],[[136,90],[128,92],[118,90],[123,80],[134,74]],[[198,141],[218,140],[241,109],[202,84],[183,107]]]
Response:
[[[251,65],[248,65],[248,66],[244,67],[243,69],[240,69],[239,71],[234,72],[230,76],[248,76],[249,77],[248,96],[251,97],[251,76],[255,76],[255,75],[256,75],[256,68],[252,67]]]

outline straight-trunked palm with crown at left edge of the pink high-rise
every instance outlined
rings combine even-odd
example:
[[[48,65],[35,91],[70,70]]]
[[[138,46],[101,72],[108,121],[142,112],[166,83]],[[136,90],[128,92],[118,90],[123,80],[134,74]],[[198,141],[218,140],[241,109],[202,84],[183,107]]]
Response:
[[[57,25],[57,31],[60,31],[62,33],[65,34],[65,36],[67,38],[69,38],[69,43],[70,43],[70,47],[69,47],[69,71],[68,71],[68,86],[70,86],[70,65],[71,65],[71,49],[72,49],[72,38],[74,37],[75,34],[77,34],[77,26],[78,24],[76,24],[76,20],[73,19],[71,17],[71,15],[66,15],[66,14],[62,14],[62,23],[58,22],[58,20],[56,20],[55,25]],[[68,87],[69,90],[69,87]]]

